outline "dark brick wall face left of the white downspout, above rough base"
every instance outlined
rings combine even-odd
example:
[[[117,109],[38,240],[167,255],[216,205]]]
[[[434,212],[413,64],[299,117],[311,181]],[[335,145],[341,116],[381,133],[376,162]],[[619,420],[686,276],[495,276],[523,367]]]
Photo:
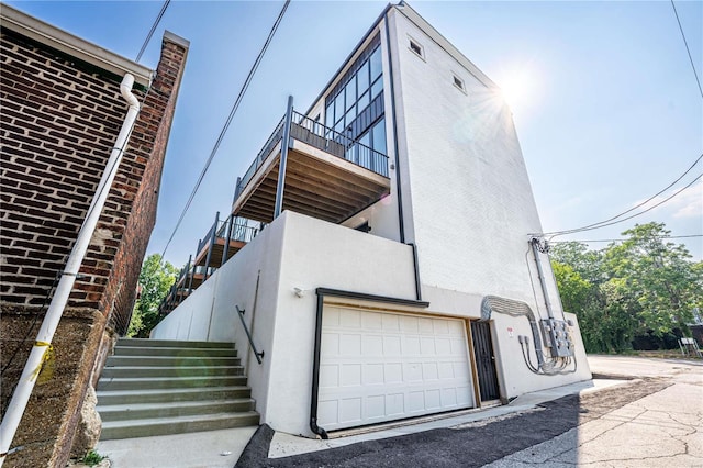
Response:
[[[126,105],[119,82],[22,36],[3,31],[0,47],[0,293],[3,303],[37,305],[68,258]],[[104,285],[100,266],[86,264],[91,278],[71,298]]]

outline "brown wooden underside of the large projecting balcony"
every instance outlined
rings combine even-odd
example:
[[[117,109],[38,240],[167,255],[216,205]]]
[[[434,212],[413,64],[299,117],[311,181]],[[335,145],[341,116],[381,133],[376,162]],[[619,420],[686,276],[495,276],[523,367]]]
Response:
[[[274,220],[280,151],[235,201],[233,213]],[[283,210],[341,223],[390,193],[390,179],[298,140],[288,152]]]

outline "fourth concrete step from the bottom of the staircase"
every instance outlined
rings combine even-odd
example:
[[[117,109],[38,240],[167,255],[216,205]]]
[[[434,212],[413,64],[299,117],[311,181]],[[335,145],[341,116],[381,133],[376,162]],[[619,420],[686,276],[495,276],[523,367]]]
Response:
[[[96,390],[156,390],[246,386],[245,376],[111,377],[101,378]]]

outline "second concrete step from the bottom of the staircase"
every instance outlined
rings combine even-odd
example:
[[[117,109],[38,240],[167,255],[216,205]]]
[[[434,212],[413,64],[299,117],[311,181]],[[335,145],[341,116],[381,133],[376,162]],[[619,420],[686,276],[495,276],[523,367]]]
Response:
[[[239,398],[231,400],[205,400],[171,403],[130,403],[98,406],[103,422],[136,421],[155,417],[175,417],[217,413],[237,413],[254,410],[254,400]]]

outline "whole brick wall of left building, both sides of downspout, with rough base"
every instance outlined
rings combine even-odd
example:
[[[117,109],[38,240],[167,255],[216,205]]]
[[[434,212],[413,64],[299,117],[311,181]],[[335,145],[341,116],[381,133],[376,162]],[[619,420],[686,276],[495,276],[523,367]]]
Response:
[[[0,44],[0,404],[9,403],[126,114],[122,77],[7,29]],[[36,386],[5,466],[65,466],[103,333],[126,331],[187,44],[170,35],[54,339],[54,377]],[[10,359],[12,361],[10,363]],[[98,366],[99,367],[99,366]]]

